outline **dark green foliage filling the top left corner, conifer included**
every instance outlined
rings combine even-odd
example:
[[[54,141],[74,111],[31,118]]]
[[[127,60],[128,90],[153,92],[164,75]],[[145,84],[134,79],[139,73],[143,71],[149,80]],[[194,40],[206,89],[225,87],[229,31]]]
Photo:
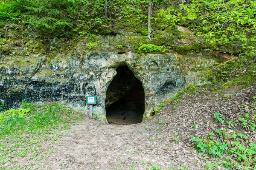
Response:
[[[50,3],[51,2],[51,3]],[[40,34],[67,34],[84,0],[14,0],[0,6],[0,19],[18,21]]]

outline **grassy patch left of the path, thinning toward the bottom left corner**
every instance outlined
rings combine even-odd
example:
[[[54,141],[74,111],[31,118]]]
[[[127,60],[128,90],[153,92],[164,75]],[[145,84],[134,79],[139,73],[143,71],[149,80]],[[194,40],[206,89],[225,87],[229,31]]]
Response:
[[[69,129],[70,122],[80,120],[80,116],[56,102],[33,105],[26,100],[20,108],[0,113],[0,169],[26,169],[20,160],[46,169],[39,162],[55,150],[43,145],[60,145],[58,139]]]

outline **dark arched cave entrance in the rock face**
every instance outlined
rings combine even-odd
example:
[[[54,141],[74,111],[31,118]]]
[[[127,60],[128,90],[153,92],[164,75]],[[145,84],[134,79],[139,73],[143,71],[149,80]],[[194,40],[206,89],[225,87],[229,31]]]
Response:
[[[142,83],[126,65],[119,66],[116,72],[106,94],[107,120],[119,125],[140,123],[145,111]]]

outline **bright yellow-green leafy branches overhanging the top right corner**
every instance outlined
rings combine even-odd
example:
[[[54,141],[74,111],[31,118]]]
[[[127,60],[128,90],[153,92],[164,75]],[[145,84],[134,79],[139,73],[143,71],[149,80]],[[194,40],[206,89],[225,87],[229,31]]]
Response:
[[[218,49],[218,46],[231,46],[234,48],[233,51],[229,51],[231,54],[254,54],[255,2],[193,0],[181,6],[183,10],[177,16],[182,16],[182,23],[191,23],[187,26],[196,32],[197,37],[204,38],[205,43],[209,43],[215,49]]]

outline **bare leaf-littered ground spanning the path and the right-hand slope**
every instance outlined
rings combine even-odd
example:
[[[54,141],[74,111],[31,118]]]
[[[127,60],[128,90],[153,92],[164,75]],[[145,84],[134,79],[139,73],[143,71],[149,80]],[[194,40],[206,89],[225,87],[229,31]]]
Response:
[[[223,155],[215,159],[198,153],[191,138],[206,137],[223,127],[228,129],[230,125],[225,121],[216,121],[214,113],[219,112],[227,121],[237,122],[232,124],[232,132],[246,134],[247,140],[255,143],[255,133],[244,130],[236,121],[250,106],[255,113],[253,96],[255,87],[230,89],[224,97],[204,89],[184,94],[178,104],[170,103],[154,118],[134,125],[105,124],[84,116],[83,121],[61,133],[58,144],[42,143],[42,148],[55,150],[45,159],[27,161],[24,156],[17,157],[16,162],[25,169],[50,170],[204,170],[211,164],[215,164],[213,169],[225,169],[220,163]],[[235,159],[236,155],[230,157]]]

